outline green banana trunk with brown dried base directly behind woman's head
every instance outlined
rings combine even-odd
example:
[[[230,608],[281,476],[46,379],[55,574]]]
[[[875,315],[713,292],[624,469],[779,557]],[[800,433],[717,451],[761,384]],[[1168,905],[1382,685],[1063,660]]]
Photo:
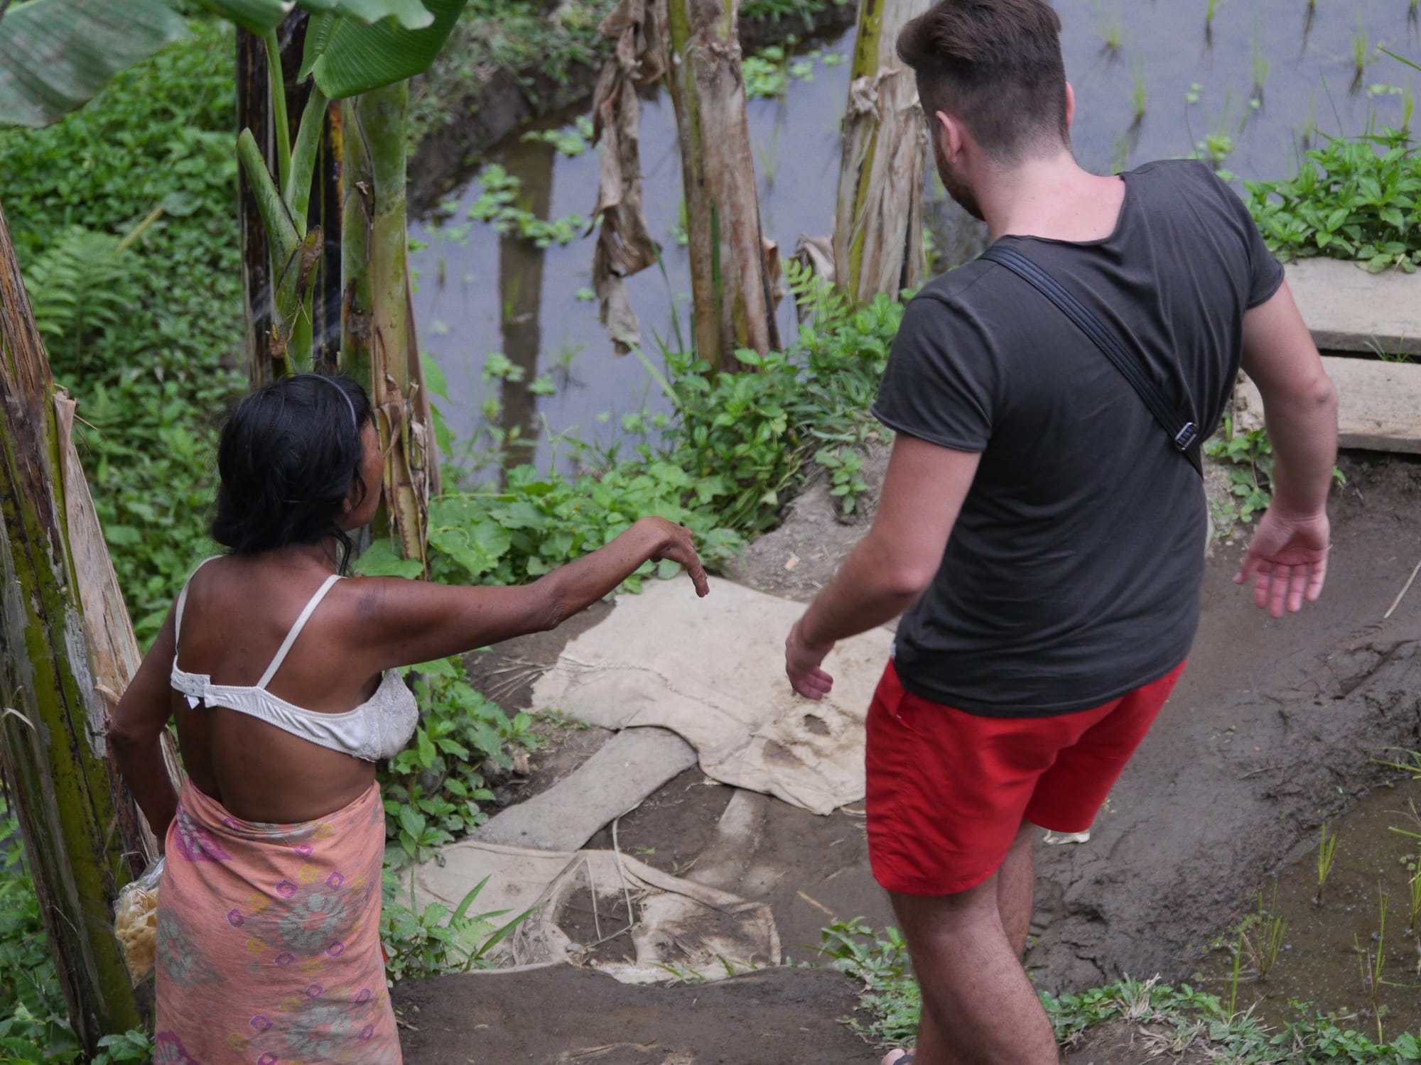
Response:
[[[341,102],[341,364],[368,382],[387,456],[377,532],[428,569],[429,496],[439,491],[439,471],[406,261],[408,104],[408,81]]]

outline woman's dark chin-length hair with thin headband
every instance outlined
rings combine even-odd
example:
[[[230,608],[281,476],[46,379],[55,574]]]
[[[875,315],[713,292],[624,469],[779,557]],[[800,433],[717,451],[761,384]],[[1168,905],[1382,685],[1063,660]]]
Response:
[[[357,503],[371,488],[361,477],[369,420],[365,389],[344,375],[297,373],[243,398],[217,443],[212,538],[254,555],[334,537],[344,571],[351,538],[337,520],[352,486]]]

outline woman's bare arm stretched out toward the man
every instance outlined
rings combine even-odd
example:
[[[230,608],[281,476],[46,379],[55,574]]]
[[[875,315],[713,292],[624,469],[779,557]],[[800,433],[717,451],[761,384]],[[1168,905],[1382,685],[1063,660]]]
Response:
[[[642,518],[607,547],[517,588],[361,578],[352,582],[358,589],[352,650],[375,669],[391,669],[556,629],[644,562],[664,558],[686,568],[696,595],[710,591],[691,531],[664,518]]]

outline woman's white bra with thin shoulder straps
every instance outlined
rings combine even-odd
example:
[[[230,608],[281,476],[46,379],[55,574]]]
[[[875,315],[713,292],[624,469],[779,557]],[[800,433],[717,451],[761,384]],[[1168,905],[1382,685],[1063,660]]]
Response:
[[[210,561],[209,558],[207,562]],[[196,571],[193,571],[193,577],[196,577]],[[394,758],[409,743],[409,737],[415,734],[415,726],[419,723],[419,706],[415,696],[395,670],[385,670],[375,694],[354,710],[340,714],[306,710],[266,690],[271,677],[286,662],[287,652],[291,650],[296,638],[301,635],[306,622],[310,621],[321,599],[340,579],[340,575],[331,574],[315,589],[315,595],[306,604],[306,609],[301,611],[291,630],[286,633],[286,640],[277,649],[276,657],[271,659],[271,665],[267,666],[267,672],[261,674],[256,686],[213,684],[212,677],[206,673],[188,673],[179,669],[176,653],[173,655],[172,686],[188,697],[188,706],[193,709],[199,703],[206,703],[207,706],[236,710],[239,714],[249,714],[303,740],[364,761]],[[192,584],[192,577],[188,578],[188,584]],[[188,602],[188,584],[178,594],[175,643],[182,639],[182,611]]]

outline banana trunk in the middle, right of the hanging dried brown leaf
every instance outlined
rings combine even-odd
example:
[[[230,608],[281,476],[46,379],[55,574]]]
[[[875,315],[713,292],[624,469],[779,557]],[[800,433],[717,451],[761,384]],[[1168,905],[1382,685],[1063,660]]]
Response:
[[[763,355],[780,342],[767,268],[776,253],[760,231],[737,11],[739,0],[666,0],[696,352],[728,371],[739,368],[737,348]]]

